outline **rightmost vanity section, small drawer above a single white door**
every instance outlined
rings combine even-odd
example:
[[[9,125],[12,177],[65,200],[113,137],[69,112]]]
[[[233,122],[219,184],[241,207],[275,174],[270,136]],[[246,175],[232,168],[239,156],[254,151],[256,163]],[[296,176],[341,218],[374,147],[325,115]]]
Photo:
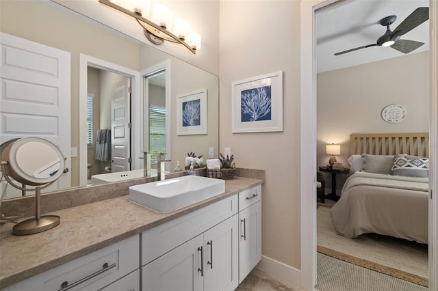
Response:
[[[239,283],[261,260],[261,186],[239,193]]]

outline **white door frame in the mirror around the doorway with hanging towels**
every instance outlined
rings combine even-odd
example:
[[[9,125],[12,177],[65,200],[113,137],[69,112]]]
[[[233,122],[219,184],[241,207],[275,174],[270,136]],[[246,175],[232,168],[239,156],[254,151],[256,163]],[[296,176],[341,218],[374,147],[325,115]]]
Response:
[[[131,70],[123,66],[118,66],[110,61],[104,61],[90,55],[83,53],[79,54],[79,186],[87,185],[87,96],[88,96],[88,67],[98,68],[101,70],[109,70],[117,74],[123,74],[126,77],[131,78],[131,158],[132,161],[138,160],[140,157],[136,155],[140,150],[136,148],[137,140],[140,135],[138,133],[138,127],[136,126],[136,111],[132,110],[132,107],[136,108],[136,96],[140,96],[140,83],[139,74],[136,70]],[[131,163],[133,169],[136,168],[136,163]]]

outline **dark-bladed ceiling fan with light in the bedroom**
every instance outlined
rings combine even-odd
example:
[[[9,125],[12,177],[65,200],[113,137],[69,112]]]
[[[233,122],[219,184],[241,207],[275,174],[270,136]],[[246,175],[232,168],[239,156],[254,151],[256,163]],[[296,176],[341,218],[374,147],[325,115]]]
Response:
[[[424,44],[424,42],[415,42],[414,40],[400,40],[400,36],[403,36],[404,33],[411,31],[418,25],[424,23],[424,21],[429,19],[429,8],[428,7],[420,7],[415,9],[407,18],[405,18],[400,25],[394,31],[389,29],[389,25],[396,21],[397,16],[391,15],[385,18],[382,18],[380,23],[381,25],[386,27],[386,32],[378,38],[375,44],[367,44],[365,46],[359,46],[357,48],[351,48],[347,51],[341,51],[339,53],[335,53],[335,55],[342,55],[344,53],[350,53],[352,51],[357,51],[362,48],[369,48],[370,46],[391,46],[391,48],[396,49],[402,53],[411,53],[411,51],[419,48]]]

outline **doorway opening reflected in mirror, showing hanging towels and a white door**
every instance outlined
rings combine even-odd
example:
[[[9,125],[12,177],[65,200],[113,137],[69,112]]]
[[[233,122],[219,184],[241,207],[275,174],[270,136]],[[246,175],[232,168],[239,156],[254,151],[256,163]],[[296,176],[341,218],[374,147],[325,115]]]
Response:
[[[87,180],[131,169],[131,78],[88,66]]]

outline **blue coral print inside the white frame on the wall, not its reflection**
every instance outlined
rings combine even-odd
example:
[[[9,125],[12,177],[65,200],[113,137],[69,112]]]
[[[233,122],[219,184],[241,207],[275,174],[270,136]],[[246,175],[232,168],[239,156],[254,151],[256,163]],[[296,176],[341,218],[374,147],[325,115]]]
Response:
[[[271,120],[271,86],[242,90],[241,121]]]

